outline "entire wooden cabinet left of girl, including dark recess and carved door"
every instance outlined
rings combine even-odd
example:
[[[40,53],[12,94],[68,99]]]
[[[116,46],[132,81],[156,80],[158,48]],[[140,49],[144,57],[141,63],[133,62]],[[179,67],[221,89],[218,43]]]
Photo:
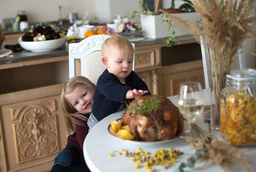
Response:
[[[50,170],[67,145],[60,94],[68,57],[0,65],[0,171]]]

